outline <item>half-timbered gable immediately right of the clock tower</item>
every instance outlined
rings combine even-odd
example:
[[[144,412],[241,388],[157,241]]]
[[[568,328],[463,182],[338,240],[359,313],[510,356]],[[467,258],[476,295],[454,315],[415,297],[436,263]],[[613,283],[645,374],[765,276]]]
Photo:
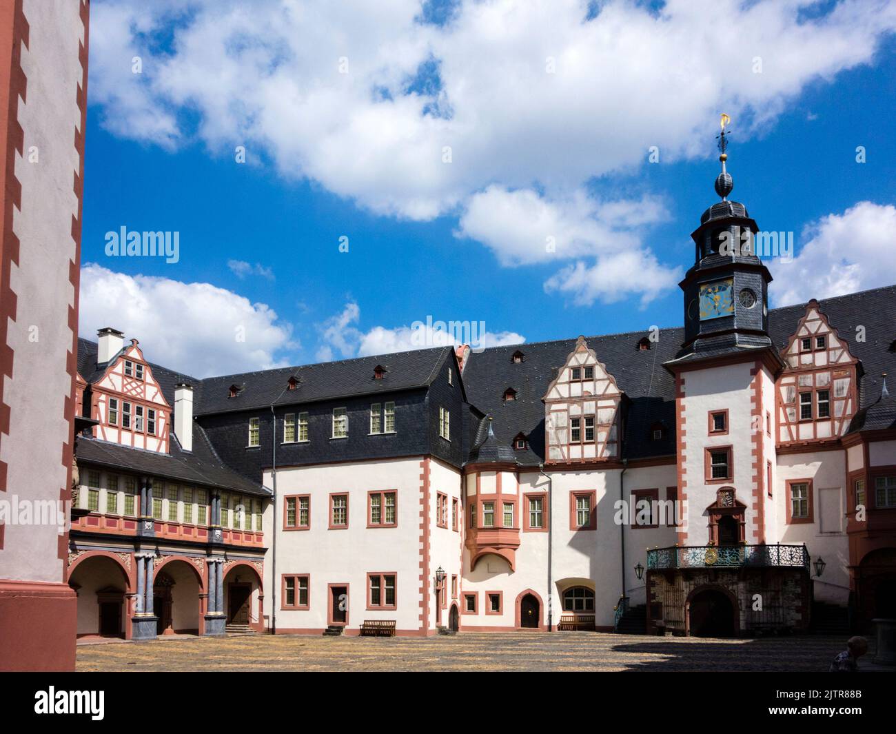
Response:
[[[816,300],[806,304],[781,356],[787,367],[778,380],[779,444],[843,436],[858,409],[858,360]]]

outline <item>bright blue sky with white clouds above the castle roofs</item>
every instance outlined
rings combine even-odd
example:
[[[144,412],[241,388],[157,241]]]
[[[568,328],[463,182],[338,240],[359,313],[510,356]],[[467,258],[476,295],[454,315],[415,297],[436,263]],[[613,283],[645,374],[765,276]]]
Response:
[[[889,4],[311,5],[92,5],[82,335],[202,376],[407,349],[427,316],[487,343],[680,324],[722,111],[731,198],[796,236],[772,306],[896,282]],[[744,47],[692,43],[698,11]],[[123,226],[177,231],[179,262],[108,257]]]

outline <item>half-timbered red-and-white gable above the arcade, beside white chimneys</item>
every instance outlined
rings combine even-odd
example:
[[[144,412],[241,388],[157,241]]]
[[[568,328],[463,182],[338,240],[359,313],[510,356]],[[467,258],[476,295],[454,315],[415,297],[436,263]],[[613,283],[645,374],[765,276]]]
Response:
[[[168,452],[171,406],[137,340],[112,358],[91,389],[94,435],[114,444]]]

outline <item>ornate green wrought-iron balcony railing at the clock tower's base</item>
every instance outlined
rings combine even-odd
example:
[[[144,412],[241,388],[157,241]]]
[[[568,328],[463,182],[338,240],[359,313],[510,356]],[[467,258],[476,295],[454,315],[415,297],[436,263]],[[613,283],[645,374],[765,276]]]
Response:
[[[809,570],[805,545],[672,546],[647,551],[648,570],[668,568],[803,567]]]

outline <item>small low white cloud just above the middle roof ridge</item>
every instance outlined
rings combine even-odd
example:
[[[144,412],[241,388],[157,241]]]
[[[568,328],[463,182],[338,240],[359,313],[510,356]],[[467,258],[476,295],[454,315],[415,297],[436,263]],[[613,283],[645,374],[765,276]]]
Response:
[[[489,332],[482,322],[440,323],[432,318],[392,329],[374,326],[369,331],[362,332],[357,326],[360,315],[358,304],[349,302],[340,314],[332,316],[323,324],[323,344],[317,350],[318,359],[327,361],[337,357],[365,357],[429,347],[457,346],[462,343],[472,343],[476,347],[495,347],[526,341],[524,336],[515,332]]]

